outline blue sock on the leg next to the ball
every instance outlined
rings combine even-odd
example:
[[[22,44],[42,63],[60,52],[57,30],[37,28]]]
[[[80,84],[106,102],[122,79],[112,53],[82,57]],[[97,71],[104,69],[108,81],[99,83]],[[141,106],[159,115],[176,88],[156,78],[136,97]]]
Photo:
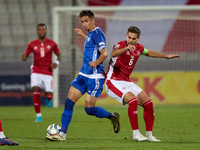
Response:
[[[64,134],[66,134],[69,123],[72,120],[74,104],[75,103],[71,101],[69,98],[65,100],[65,109],[63,111],[61,118],[62,122],[61,132],[63,132]]]

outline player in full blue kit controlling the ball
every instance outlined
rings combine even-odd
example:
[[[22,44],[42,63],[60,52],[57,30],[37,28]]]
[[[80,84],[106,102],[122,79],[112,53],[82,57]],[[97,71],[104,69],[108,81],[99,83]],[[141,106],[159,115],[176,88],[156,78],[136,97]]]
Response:
[[[65,109],[62,114],[62,127],[59,135],[46,136],[51,141],[65,141],[66,132],[72,119],[74,104],[85,94],[85,111],[88,115],[98,118],[108,118],[112,121],[114,132],[120,130],[119,114],[110,113],[101,107],[95,107],[97,98],[101,95],[105,80],[103,61],[107,57],[106,38],[99,27],[95,26],[94,14],[90,10],[82,10],[79,14],[87,36],[80,29],[75,32],[85,40],[83,65],[78,76],[72,81],[65,100]]]

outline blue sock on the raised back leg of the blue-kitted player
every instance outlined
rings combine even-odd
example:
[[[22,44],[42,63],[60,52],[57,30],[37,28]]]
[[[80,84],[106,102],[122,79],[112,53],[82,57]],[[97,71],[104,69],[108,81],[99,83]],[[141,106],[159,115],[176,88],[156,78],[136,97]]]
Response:
[[[111,118],[113,116],[112,113],[106,111],[101,107],[85,107],[85,112],[88,115],[96,116],[98,118]]]

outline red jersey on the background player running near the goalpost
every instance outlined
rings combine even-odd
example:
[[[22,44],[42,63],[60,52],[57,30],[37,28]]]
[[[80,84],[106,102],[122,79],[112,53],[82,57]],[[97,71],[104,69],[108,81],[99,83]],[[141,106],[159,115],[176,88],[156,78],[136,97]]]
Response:
[[[26,55],[29,56],[31,52],[34,55],[32,73],[52,75],[53,69],[50,67],[52,64],[52,53],[58,54],[60,52],[57,44],[49,38],[46,38],[44,43],[36,39],[27,46]]]

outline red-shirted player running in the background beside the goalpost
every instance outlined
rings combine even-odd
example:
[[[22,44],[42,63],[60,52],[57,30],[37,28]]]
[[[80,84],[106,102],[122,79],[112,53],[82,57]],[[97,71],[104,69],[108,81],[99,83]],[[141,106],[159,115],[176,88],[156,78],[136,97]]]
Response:
[[[53,76],[52,72],[61,61],[61,53],[57,44],[46,37],[47,28],[45,24],[37,25],[38,39],[31,41],[25,53],[22,55],[22,60],[26,61],[29,54],[33,52],[34,61],[31,65],[31,87],[33,88],[33,105],[36,112],[36,122],[42,121],[40,89],[45,90],[46,105],[52,105],[53,98]],[[57,55],[57,60],[52,63],[52,53]]]

